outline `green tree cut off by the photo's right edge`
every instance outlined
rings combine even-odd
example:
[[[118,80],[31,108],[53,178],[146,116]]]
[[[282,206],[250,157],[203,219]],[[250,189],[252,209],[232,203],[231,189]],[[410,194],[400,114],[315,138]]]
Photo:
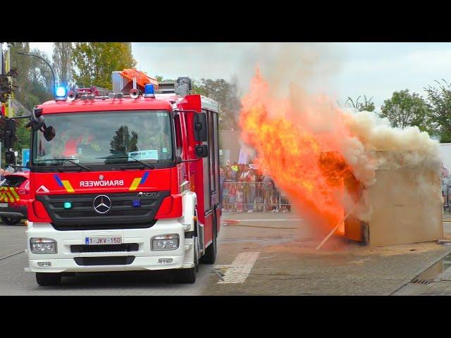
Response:
[[[438,87],[424,88],[428,95],[428,107],[431,110],[433,121],[440,142],[451,142],[451,87],[445,80],[443,83],[435,82]]]

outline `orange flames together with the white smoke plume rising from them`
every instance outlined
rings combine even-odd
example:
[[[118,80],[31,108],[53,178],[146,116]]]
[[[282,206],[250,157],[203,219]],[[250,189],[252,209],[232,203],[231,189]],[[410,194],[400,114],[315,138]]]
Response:
[[[353,175],[362,185],[354,215],[369,220],[366,189],[376,170],[440,168],[438,142],[426,132],[392,128],[373,113],[340,108],[326,94],[340,58],[340,49],[325,44],[261,44],[245,60],[248,71],[249,63],[258,68],[242,98],[242,139],[302,216],[322,229],[334,227],[342,208],[354,204],[338,178]],[[421,189],[441,198],[436,187]]]

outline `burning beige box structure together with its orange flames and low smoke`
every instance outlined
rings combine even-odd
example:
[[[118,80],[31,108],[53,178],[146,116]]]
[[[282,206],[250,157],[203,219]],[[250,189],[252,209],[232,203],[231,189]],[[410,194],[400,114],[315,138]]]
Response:
[[[296,84],[280,99],[258,70],[240,125],[260,168],[314,230],[373,245],[443,237],[438,143],[417,127],[391,128]]]

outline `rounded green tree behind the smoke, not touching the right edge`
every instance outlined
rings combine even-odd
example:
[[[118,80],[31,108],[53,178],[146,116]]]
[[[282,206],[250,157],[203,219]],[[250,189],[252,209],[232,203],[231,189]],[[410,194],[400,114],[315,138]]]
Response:
[[[421,131],[431,132],[431,109],[419,94],[410,94],[409,89],[394,92],[383,102],[378,115],[388,118],[392,127],[416,125]]]

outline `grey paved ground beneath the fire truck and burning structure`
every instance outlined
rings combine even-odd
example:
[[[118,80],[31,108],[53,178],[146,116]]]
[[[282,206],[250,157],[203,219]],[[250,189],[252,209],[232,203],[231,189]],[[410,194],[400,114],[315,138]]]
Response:
[[[321,238],[291,213],[229,214],[216,265],[200,265],[194,284],[160,273],[65,277],[39,287],[27,265],[25,227],[0,225],[0,295],[309,295],[394,294],[450,253],[436,243],[373,248]]]

